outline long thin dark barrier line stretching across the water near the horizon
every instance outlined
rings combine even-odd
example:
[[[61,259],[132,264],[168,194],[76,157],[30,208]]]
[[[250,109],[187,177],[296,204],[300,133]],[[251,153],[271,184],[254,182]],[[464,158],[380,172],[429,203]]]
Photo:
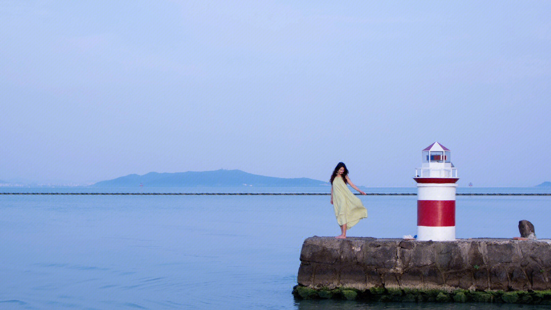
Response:
[[[329,193],[0,193],[0,195],[230,195],[328,196]],[[361,194],[355,194],[361,195]],[[417,196],[417,193],[366,193],[368,196]],[[457,196],[551,196],[551,193],[458,193]]]

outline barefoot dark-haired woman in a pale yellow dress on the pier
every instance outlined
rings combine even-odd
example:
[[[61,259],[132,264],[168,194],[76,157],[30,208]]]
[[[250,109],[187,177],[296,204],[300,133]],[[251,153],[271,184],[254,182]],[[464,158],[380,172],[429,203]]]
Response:
[[[368,210],[364,208],[361,201],[356,197],[346,184],[365,195],[348,178],[348,169],[343,162],[339,162],[331,175],[331,204],[335,209],[337,223],[341,226],[341,235],[337,239],[346,238],[346,231],[356,225],[360,219],[368,217]]]

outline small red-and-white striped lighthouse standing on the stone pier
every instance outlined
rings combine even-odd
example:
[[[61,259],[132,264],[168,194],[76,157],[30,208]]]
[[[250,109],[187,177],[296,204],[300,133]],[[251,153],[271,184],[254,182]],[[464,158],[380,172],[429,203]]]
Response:
[[[417,182],[417,240],[455,240],[455,189],[457,168],[451,151],[438,142],[421,151],[423,160],[415,168]]]

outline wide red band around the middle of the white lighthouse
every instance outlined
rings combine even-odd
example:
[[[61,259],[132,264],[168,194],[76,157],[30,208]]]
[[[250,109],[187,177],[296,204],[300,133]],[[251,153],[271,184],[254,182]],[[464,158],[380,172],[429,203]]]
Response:
[[[455,200],[417,200],[417,226],[455,226]]]

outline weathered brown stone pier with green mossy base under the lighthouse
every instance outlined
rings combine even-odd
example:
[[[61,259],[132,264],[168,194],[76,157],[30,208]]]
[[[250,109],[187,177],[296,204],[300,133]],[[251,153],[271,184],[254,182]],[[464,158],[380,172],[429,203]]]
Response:
[[[551,241],[311,237],[297,298],[551,304]]]

